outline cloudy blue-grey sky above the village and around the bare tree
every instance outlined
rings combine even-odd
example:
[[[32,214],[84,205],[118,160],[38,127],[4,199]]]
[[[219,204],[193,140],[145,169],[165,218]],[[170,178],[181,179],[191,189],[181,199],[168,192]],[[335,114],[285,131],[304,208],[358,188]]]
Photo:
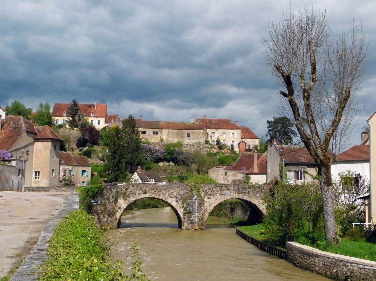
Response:
[[[103,2],[105,4],[103,4]],[[278,86],[261,36],[296,0],[2,0],[0,106],[20,100],[107,103],[121,117],[189,121],[231,118],[259,136],[279,116]],[[376,2],[314,0],[333,31],[354,19],[369,41],[356,103],[359,144],[376,111]]]

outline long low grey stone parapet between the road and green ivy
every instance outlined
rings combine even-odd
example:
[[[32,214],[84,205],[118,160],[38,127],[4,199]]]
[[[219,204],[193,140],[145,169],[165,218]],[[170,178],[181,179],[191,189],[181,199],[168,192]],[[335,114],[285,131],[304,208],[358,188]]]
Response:
[[[45,225],[37,244],[13,274],[11,281],[36,280],[34,272],[38,271],[37,267],[41,266],[43,264],[43,259],[47,258],[46,251],[48,249],[48,241],[52,237],[56,225],[60,222],[61,218],[70,211],[78,209],[78,205],[78,193],[72,191],[64,201],[63,207],[60,209],[56,217]]]

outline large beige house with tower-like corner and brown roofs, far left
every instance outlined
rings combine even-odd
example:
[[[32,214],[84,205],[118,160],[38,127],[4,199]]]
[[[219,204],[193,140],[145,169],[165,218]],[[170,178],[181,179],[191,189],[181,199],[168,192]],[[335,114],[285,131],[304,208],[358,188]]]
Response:
[[[22,187],[58,184],[60,141],[49,126],[36,126],[22,116],[8,115],[0,130],[0,150],[12,154],[10,165]],[[4,184],[11,186],[12,182]]]

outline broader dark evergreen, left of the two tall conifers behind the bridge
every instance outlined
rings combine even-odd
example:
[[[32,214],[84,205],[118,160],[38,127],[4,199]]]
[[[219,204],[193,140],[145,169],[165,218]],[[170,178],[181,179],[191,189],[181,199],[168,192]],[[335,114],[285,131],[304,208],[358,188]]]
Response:
[[[104,170],[107,175],[107,181],[124,181],[128,173],[124,161],[125,149],[123,130],[118,126],[111,128],[107,134],[106,144],[108,152],[105,156]]]

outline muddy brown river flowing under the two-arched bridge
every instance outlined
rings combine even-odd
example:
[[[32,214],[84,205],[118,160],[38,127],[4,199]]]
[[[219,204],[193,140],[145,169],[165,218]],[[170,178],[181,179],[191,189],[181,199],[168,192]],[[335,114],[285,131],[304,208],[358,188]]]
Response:
[[[156,280],[326,280],[299,269],[246,242],[235,228],[210,217],[203,231],[177,228],[171,208],[125,211],[120,229],[109,231],[112,256],[131,256],[129,246],[140,247],[142,269]],[[128,259],[124,272],[131,268]]]

